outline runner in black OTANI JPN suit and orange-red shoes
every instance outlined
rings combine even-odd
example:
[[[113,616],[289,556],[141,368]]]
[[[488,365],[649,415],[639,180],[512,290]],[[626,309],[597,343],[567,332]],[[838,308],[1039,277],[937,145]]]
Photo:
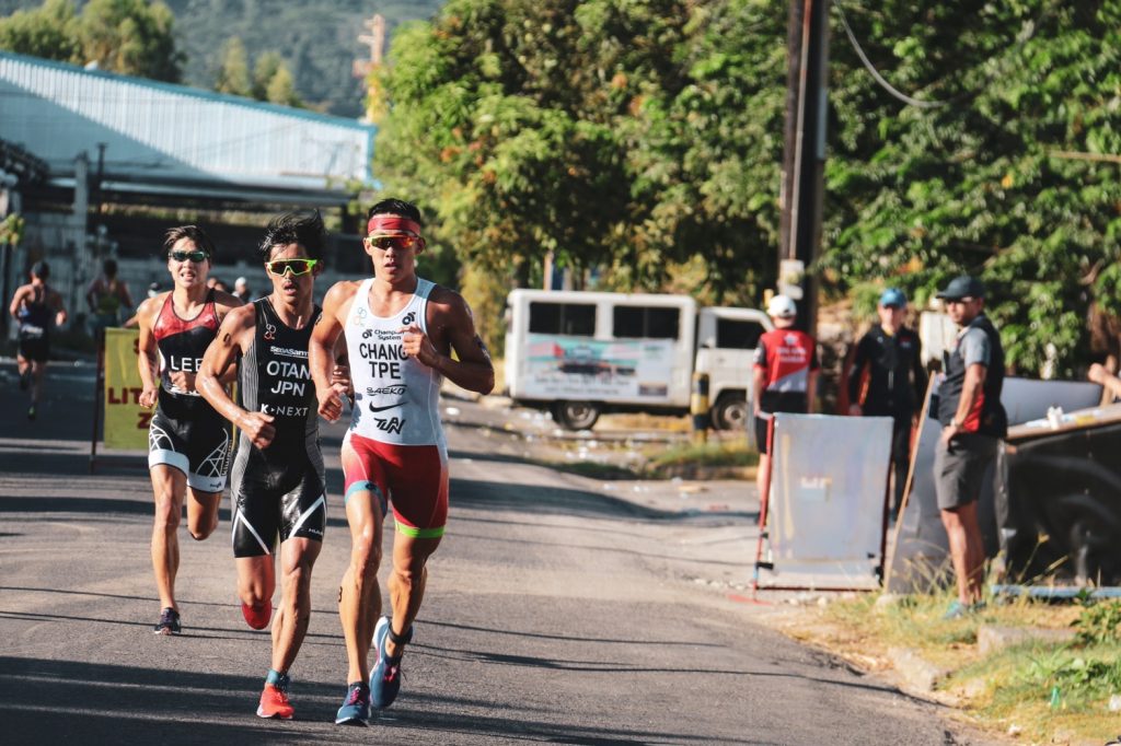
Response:
[[[254,630],[265,628],[272,613],[272,552],[280,543],[282,590],[272,621],[271,668],[257,708],[262,718],[293,717],[288,670],[312,617],[312,568],[326,526],[318,413],[307,367],[307,343],[321,313],[313,291],[325,239],[318,213],[269,223],[260,252],[272,292],[230,311],[198,372],[203,397],[241,430],[233,463],[233,554],[241,610]],[[241,405],[221,383],[232,364],[240,370]]]

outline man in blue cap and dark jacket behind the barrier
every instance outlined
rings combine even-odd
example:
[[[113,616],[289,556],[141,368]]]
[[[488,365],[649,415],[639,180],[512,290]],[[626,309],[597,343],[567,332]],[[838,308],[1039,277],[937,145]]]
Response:
[[[878,310],[880,325],[861,337],[849,371],[849,413],[895,420],[891,435],[895,488],[889,505],[895,516],[907,485],[911,428],[926,394],[926,370],[919,355],[918,335],[904,326],[907,316],[904,291],[884,290]]]

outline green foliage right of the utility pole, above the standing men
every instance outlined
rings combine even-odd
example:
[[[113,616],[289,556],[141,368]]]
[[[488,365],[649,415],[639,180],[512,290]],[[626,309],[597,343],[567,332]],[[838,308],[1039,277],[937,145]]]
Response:
[[[834,40],[822,267],[924,296],[980,274],[1010,364],[1072,375],[1091,306],[1119,310],[1118,167],[1065,155],[1119,152],[1118,3],[846,8],[897,86],[951,105],[900,105]]]

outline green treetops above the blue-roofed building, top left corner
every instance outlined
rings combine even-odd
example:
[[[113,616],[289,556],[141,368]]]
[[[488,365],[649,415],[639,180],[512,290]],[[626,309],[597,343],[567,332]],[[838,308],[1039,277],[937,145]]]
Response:
[[[183,56],[174,20],[163,2],[90,0],[77,16],[70,0],[45,0],[39,8],[0,18],[0,48],[177,82]]]

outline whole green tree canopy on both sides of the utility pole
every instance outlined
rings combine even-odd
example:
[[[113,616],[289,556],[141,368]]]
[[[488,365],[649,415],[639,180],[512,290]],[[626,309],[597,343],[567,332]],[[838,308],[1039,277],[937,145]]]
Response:
[[[899,92],[877,84],[868,63]],[[1071,373],[1121,309],[1121,1],[831,8],[825,291],[989,281],[1009,360]],[[494,277],[758,302],[775,281],[786,8],[451,0],[401,28],[377,172]],[[858,293],[859,295],[859,293]],[[865,297],[870,293],[865,293]]]

